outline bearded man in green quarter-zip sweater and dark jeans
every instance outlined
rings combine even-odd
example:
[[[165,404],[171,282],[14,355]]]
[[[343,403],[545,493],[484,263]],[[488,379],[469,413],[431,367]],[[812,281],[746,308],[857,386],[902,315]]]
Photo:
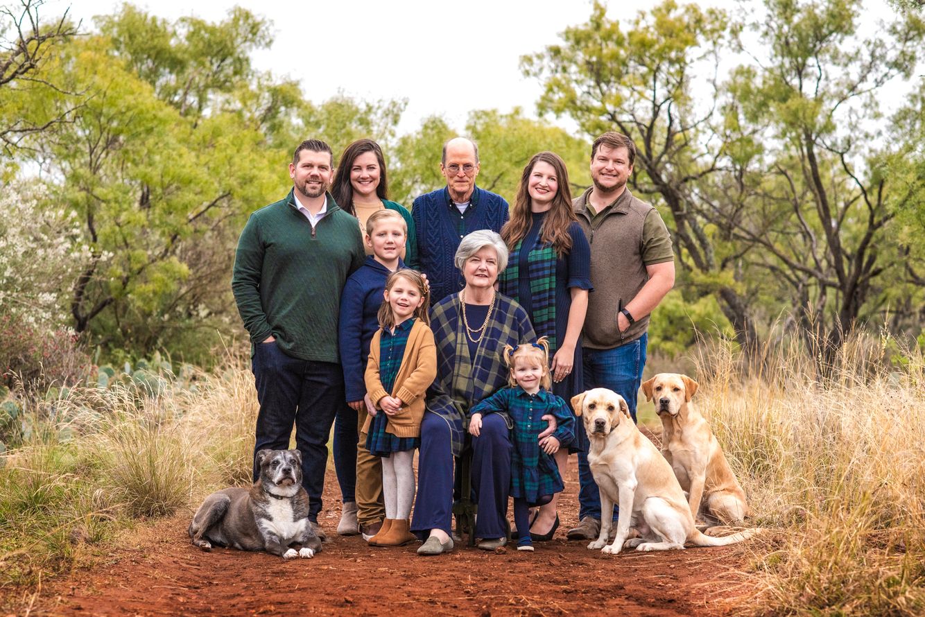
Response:
[[[327,438],[344,404],[338,355],[340,291],[365,253],[356,218],[327,188],[334,156],[327,143],[307,140],[290,163],[293,189],[254,212],[235,254],[231,289],[251,335],[257,387],[253,479],[259,450],[289,448],[295,424],[302,453],[302,486],[316,533],[325,487]]]

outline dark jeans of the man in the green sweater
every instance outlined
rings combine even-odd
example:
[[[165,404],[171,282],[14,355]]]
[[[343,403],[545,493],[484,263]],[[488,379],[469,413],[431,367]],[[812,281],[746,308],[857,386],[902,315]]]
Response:
[[[260,402],[253,479],[260,475],[257,452],[288,449],[294,423],[295,445],[302,452],[302,487],[308,492],[308,518],[316,523],[325,488],[327,438],[334,415],[344,405],[340,364],[299,360],[270,342],[257,345],[251,368]]]

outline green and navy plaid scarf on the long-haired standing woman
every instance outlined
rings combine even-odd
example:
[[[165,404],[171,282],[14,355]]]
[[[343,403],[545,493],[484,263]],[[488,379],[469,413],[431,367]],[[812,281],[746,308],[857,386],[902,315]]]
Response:
[[[501,273],[500,290],[514,301],[520,302],[520,253],[524,239],[517,241],[508,258],[508,267]],[[533,327],[537,337],[549,339],[549,355],[559,349],[556,340],[556,263],[559,259],[551,244],[536,237],[536,243],[527,254],[526,276],[530,280],[530,303]]]

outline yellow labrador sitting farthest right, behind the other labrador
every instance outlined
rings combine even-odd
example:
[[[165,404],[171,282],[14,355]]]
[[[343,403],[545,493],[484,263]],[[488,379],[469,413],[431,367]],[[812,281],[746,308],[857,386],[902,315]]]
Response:
[[[686,375],[660,373],[642,385],[661,418],[661,453],[687,491],[697,519],[701,501],[706,513],[723,524],[740,523],[749,512],[746,494],[729,468],[720,443],[694,402],[697,382]]]

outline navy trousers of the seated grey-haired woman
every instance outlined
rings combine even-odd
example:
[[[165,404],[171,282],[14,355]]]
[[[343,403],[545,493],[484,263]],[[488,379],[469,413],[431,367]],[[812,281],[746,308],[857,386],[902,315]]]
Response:
[[[476,537],[502,537],[511,487],[512,443],[508,426],[496,414],[482,419],[482,434],[473,438],[472,486],[478,504]],[[417,464],[417,497],[411,530],[425,539],[431,529],[452,533],[453,455],[450,425],[427,412],[421,423]]]

